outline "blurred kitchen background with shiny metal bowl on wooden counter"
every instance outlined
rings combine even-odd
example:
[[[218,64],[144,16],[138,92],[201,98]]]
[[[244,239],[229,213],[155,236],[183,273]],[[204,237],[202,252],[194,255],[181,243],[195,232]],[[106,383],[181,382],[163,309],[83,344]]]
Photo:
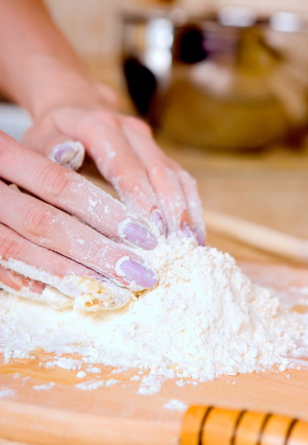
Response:
[[[308,238],[308,0],[46,4],[122,109],[198,179],[205,209]],[[7,117],[20,137],[28,118],[10,116],[0,112],[0,128]],[[87,164],[82,173],[96,180]],[[209,241],[271,261],[211,231]]]

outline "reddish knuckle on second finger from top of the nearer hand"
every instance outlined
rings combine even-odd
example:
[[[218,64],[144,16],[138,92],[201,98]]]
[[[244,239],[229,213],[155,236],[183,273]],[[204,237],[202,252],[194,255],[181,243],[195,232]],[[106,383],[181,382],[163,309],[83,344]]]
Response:
[[[27,232],[37,237],[45,237],[51,228],[52,215],[46,207],[32,204],[21,212],[21,221]]]

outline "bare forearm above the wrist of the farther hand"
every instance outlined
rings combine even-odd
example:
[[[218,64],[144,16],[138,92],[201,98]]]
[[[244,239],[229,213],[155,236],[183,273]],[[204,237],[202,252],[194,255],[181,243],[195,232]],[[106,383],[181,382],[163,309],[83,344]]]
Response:
[[[0,45],[0,89],[35,117],[93,88],[40,0],[0,0]]]

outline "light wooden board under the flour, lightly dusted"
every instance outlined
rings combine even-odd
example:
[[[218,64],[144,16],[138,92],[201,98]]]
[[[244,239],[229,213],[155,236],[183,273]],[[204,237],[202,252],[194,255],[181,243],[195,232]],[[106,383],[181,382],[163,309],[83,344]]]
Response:
[[[305,269],[256,262],[241,266],[254,282],[275,289],[284,300],[305,297]],[[308,306],[298,309],[306,311]],[[134,370],[112,374],[112,368],[102,367],[101,374],[78,379],[77,371],[45,369],[50,355],[36,356],[9,364],[0,359],[0,438],[28,444],[177,444],[183,411],[164,408],[174,399],[187,405],[272,411],[308,420],[307,357],[297,363],[301,369],[223,376],[198,386],[179,387],[168,381],[159,394],[142,396],[136,394],[138,382],[130,381]],[[94,391],[74,386],[96,376],[121,382]],[[33,389],[49,382],[55,383],[50,390]],[[12,391],[4,393],[3,388]]]

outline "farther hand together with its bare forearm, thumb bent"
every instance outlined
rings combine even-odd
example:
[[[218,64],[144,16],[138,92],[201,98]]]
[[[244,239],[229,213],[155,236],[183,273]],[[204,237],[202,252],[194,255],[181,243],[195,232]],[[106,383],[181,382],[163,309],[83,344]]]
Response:
[[[130,209],[161,232],[180,229],[204,244],[195,180],[143,121],[114,110],[114,95],[83,66],[43,2],[0,0],[0,12],[0,88],[33,116],[26,146],[76,169],[83,145]]]

